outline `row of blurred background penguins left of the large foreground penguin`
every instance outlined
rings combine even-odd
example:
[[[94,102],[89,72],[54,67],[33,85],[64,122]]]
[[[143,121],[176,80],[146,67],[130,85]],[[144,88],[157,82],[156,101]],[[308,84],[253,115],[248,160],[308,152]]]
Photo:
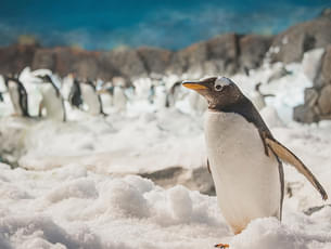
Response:
[[[117,113],[126,110],[127,103],[138,97],[138,92],[144,92],[145,100],[157,107],[170,107],[180,99],[181,82],[175,82],[169,89],[166,89],[161,81],[152,82],[148,88],[133,82],[128,88],[127,82],[122,77],[114,77],[112,82],[97,82],[91,79],[82,79],[68,75],[62,80],[62,83],[54,81],[53,75],[36,75],[33,83],[37,86],[41,96],[38,115],[31,117],[28,106],[28,91],[26,84],[18,76],[4,76],[3,82],[7,91],[0,92],[0,102],[5,102],[3,95],[8,94],[13,106],[13,116],[28,118],[49,118],[52,120],[65,121],[67,119],[67,108],[79,109],[90,115],[106,116],[104,104],[114,107]],[[144,83],[144,82],[143,82]],[[156,87],[156,84],[160,84]],[[198,95],[198,94],[196,94]],[[31,97],[31,96],[30,96]],[[169,103],[171,100],[171,103]]]

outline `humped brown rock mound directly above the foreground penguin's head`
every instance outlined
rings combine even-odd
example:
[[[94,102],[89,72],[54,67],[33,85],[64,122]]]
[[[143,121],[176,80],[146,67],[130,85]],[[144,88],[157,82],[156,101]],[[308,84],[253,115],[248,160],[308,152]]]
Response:
[[[169,71],[202,75],[232,75],[257,68],[271,44],[271,37],[225,34],[175,53]]]

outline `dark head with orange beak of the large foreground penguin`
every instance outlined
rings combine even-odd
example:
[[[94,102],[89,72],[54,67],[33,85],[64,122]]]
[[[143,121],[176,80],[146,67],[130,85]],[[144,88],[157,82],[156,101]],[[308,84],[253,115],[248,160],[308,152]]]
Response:
[[[222,110],[245,99],[237,84],[226,77],[209,77],[198,81],[188,80],[183,81],[182,86],[203,95],[211,109]]]

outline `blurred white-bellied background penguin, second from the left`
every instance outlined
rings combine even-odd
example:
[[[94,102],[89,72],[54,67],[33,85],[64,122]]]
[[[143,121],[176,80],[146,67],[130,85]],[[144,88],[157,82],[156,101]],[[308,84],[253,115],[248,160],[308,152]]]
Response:
[[[48,118],[65,121],[64,102],[59,88],[49,75],[38,76],[38,78],[42,80],[40,86],[42,100],[39,104],[39,117],[42,116],[42,109],[44,108]]]

